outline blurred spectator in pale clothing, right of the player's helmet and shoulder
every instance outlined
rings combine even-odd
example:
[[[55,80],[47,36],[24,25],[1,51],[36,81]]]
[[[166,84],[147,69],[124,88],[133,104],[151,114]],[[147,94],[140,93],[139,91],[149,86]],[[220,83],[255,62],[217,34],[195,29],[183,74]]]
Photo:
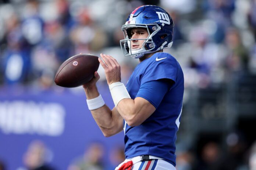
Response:
[[[203,26],[195,27],[191,31],[190,40],[192,49],[189,53],[189,64],[199,75],[199,87],[207,88],[212,82],[221,82],[223,77],[215,73],[216,69],[221,71],[223,56],[220,47],[210,42],[210,37]]]

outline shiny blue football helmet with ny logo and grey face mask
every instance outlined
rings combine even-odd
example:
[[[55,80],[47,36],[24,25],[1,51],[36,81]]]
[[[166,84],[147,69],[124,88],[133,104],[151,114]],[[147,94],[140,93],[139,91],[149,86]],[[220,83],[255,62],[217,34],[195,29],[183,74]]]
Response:
[[[124,40],[120,40],[120,46],[124,56],[141,58],[146,53],[170,48],[173,39],[173,21],[170,15],[162,8],[154,5],[145,5],[136,8],[122,26]],[[131,39],[132,28],[144,28],[147,30],[147,38]],[[145,40],[140,49],[132,49],[132,40]]]

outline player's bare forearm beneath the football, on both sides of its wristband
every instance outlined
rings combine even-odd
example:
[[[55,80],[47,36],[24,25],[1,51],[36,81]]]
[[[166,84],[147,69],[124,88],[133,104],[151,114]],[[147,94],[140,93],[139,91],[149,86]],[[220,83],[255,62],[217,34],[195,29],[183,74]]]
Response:
[[[86,97],[88,100],[94,99],[99,96],[99,92],[96,86],[92,86],[90,88],[84,88]],[[97,108],[95,110],[90,110],[92,113],[95,122],[102,130],[104,136],[111,136],[113,133],[115,134],[115,126],[117,125],[117,120],[112,114],[112,111],[106,105]]]

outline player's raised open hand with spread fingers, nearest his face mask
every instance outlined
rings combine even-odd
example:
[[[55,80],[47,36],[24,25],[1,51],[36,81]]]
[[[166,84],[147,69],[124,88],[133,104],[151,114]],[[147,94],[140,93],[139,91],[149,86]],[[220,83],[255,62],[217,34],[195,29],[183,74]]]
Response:
[[[110,85],[114,82],[121,82],[121,67],[117,60],[110,55],[100,54],[102,59],[99,58],[99,62],[105,70],[107,84]],[[104,63],[103,61],[106,63]]]

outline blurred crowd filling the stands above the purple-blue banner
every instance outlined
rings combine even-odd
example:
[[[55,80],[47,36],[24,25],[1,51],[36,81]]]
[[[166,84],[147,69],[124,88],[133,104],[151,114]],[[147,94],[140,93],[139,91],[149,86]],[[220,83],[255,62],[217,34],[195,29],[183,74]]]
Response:
[[[173,18],[174,44],[166,52],[181,63],[186,87],[206,88],[234,72],[256,72],[255,0],[5,0],[0,85],[47,89],[64,60],[102,52],[118,60],[126,82],[138,61],[122,55],[120,28],[143,4],[164,7]],[[101,67],[99,72],[104,81]]]

